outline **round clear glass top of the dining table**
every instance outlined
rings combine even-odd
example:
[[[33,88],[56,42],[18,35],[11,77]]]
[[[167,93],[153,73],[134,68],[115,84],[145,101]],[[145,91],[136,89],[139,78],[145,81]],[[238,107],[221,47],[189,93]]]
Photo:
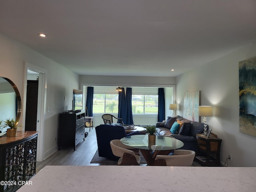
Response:
[[[172,150],[181,148],[182,141],[169,136],[156,136],[156,142],[148,142],[148,135],[132,135],[120,140],[122,144],[144,150]]]

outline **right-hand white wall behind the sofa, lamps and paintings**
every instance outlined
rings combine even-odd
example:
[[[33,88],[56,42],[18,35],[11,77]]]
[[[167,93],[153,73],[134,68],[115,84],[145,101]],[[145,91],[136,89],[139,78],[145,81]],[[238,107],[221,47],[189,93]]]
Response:
[[[228,166],[256,166],[256,137],[239,131],[238,62],[256,56],[256,43],[241,48],[176,78],[178,115],[183,115],[184,92],[201,90],[201,105],[213,106],[207,117],[212,132],[222,139],[220,158]]]

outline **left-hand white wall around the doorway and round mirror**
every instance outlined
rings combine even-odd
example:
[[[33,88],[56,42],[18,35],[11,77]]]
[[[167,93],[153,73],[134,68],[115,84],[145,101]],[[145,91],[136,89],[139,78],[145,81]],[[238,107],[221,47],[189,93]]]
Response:
[[[16,84],[22,100],[24,98],[24,61],[47,70],[46,112],[44,119],[44,158],[57,150],[58,117],[66,109],[72,109],[72,89],[78,88],[79,76],[38,52],[0,33],[0,76]],[[67,100],[64,100],[64,96]],[[23,110],[22,110],[23,112]],[[20,124],[22,124],[22,114]],[[23,127],[24,129],[24,127]]]

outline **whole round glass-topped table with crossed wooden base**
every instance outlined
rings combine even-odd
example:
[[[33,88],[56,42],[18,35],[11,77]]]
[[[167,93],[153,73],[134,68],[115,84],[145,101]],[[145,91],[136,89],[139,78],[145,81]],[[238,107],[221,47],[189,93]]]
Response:
[[[120,140],[122,144],[137,148],[148,165],[153,165],[157,155],[168,155],[172,150],[181,148],[184,143],[171,136],[156,136],[156,142],[148,142],[147,135],[132,135]]]

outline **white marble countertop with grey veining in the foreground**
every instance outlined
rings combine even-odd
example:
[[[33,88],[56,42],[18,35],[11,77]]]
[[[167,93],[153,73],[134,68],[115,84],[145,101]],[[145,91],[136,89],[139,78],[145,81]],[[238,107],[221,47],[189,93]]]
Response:
[[[256,192],[256,168],[46,166],[18,192]]]

